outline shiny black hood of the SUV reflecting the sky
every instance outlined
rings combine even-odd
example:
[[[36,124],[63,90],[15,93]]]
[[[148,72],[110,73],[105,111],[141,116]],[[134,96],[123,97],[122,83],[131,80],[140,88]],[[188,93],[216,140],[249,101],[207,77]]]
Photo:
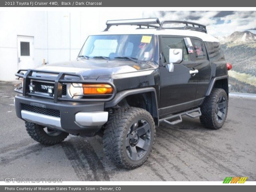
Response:
[[[142,70],[156,69],[152,62],[135,63],[129,60],[83,59],[59,62],[40,66],[36,69],[55,72],[69,72],[82,75],[85,79],[97,79],[100,76],[113,76]]]

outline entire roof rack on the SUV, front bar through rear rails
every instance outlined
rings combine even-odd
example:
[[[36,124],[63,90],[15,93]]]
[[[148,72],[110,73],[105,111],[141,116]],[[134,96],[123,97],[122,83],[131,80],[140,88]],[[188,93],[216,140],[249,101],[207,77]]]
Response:
[[[170,23],[181,23],[185,24],[184,27],[172,27],[172,28],[164,28],[164,24],[170,24]],[[189,21],[176,21],[176,20],[166,20],[163,22],[160,22],[158,18],[148,18],[148,19],[125,19],[125,20],[108,20],[106,22],[107,28],[105,28],[104,31],[108,31],[108,29],[111,26],[118,26],[118,25],[137,25],[141,29],[141,26],[145,26],[147,28],[156,28],[157,30],[162,29],[181,29],[181,30],[194,30],[194,31],[200,31],[207,33],[206,26],[189,22]]]

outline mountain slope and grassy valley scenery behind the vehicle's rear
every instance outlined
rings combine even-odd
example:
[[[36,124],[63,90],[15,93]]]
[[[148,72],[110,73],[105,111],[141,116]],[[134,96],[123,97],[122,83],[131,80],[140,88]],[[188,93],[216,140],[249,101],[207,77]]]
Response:
[[[233,66],[228,72],[231,92],[256,94],[256,34],[236,31],[220,40],[227,62]]]

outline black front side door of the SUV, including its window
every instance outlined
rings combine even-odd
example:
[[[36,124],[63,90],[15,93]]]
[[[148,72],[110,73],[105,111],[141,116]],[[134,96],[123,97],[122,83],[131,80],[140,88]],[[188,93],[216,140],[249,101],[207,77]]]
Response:
[[[194,54],[188,53],[183,37],[160,37],[162,61],[160,66],[160,117],[191,108],[194,105],[197,89],[197,76],[189,71],[196,68]],[[173,72],[165,67],[169,63],[169,49],[182,49],[183,60],[174,64]]]

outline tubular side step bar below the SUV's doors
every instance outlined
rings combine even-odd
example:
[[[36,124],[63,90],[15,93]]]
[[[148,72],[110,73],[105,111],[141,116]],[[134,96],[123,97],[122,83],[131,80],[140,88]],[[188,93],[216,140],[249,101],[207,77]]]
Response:
[[[194,112],[198,112],[198,114],[191,115],[191,113],[194,113]],[[202,113],[201,113],[201,110],[200,110],[200,107],[199,107],[199,108],[195,108],[195,109],[192,109],[192,110],[189,110],[189,111],[185,111],[185,112],[182,112],[182,113],[171,115],[169,117],[164,117],[163,119],[159,119],[159,122],[160,123],[164,122],[164,123],[167,123],[169,125],[176,125],[176,124],[182,122],[182,117],[181,116],[183,116],[183,115],[186,115],[190,118],[196,118],[196,117],[200,117],[202,115]],[[169,121],[170,119],[173,119],[173,118],[176,118],[176,117],[179,117],[179,119],[177,119],[175,121]]]

